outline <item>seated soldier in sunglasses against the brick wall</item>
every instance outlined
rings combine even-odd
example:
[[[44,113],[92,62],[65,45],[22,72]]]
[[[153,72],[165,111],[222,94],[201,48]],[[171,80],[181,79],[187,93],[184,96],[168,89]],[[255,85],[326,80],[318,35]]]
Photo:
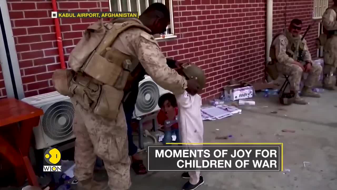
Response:
[[[290,91],[293,91],[296,96],[294,103],[307,104],[308,102],[299,95],[302,73],[308,73],[308,77],[304,82],[301,96],[319,98],[320,95],[313,92],[312,87],[319,80],[322,67],[312,63],[306,41],[301,40],[301,29],[302,21],[292,20],[288,29],[274,37],[270,57],[272,62],[276,63],[277,71],[289,76]]]

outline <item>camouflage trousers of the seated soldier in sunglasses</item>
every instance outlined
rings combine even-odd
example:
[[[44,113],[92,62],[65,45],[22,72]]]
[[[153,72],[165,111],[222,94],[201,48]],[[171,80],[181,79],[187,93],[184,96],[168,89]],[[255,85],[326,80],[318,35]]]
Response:
[[[300,91],[300,83],[302,79],[302,69],[298,65],[291,63],[278,63],[276,64],[278,72],[289,76],[290,90],[294,92]],[[311,88],[318,81],[319,75],[322,72],[322,66],[318,63],[312,63],[311,70],[308,77],[304,82],[304,86]]]

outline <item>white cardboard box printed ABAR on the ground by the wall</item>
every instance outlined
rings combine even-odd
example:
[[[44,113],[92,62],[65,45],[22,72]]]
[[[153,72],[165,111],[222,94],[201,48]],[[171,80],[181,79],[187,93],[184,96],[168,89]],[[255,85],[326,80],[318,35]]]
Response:
[[[224,96],[232,101],[252,98],[255,95],[254,88],[248,84],[228,85],[223,89]]]

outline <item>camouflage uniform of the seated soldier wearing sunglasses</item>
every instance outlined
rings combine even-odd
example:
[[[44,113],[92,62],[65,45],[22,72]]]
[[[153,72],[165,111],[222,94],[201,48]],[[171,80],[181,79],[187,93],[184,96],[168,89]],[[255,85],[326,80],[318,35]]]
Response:
[[[302,36],[300,35],[298,38],[301,39]],[[289,40],[284,34],[278,35],[278,37],[276,37],[273,41],[272,45],[275,47],[275,56],[278,62],[276,64],[276,67],[278,72],[289,76],[290,90],[296,93],[295,103],[306,104],[307,102],[300,98],[299,94],[297,93],[300,91],[300,83],[303,71],[300,66],[292,64],[294,59],[287,55],[286,51],[288,43]],[[303,61],[311,62],[311,55],[304,39],[303,43]],[[302,94],[304,96],[318,97],[318,95],[311,91],[311,88],[313,87],[315,82],[319,80],[319,75],[321,74],[321,72],[322,67],[317,63],[312,63],[311,70],[308,73],[307,79],[304,82],[304,88],[302,90]]]

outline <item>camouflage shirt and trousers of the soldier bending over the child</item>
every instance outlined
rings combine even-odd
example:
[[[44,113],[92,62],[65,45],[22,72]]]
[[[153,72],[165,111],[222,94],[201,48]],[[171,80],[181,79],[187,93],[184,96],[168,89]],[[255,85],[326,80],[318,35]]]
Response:
[[[137,22],[140,21],[137,20]],[[122,32],[113,47],[131,55],[134,67],[140,62],[147,74],[162,88],[176,94],[182,94],[187,88],[186,79],[167,66],[166,58],[161,53],[156,40],[144,30],[131,28]],[[84,110],[79,103],[72,101],[75,105],[73,123],[76,137],[75,176],[79,181],[79,188],[93,189],[94,182],[91,180],[97,155],[104,161],[110,189],[129,189],[130,158],[122,103],[119,106],[117,119],[111,121]]]

